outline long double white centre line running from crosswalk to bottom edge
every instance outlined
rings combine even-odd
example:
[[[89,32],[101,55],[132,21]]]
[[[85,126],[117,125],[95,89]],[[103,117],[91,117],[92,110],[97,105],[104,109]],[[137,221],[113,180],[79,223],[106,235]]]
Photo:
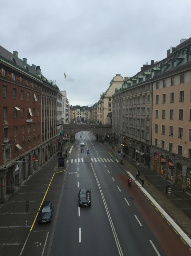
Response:
[[[117,234],[116,234],[116,232],[115,232],[115,228],[114,228],[114,225],[113,225],[113,222],[112,222],[112,219],[111,219],[109,210],[108,210],[108,206],[107,206],[107,204],[106,204],[106,202],[105,202],[105,198],[104,198],[104,195],[103,195],[103,192],[102,192],[102,189],[101,189],[99,180],[98,180],[97,175],[96,175],[96,173],[95,173],[95,171],[94,171],[94,169],[93,169],[92,163],[90,163],[90,165],[91,165],[91,168],[92,168],[92,170],[93,170],[94,176],[96,177],[96,180],[97,180],[99,189],[100,189],[101,197],[102,197],[102,200],[103,200],[103,203],[104,203],[104,206],[105,206],[105,211],[107,212],[107,215],[108,215],[108,219],[109,219],[109,222],[110,222],[111,229],[112,229],[112,231],[113,231],[113,236],[114,236],[114,238],[115,238],[115,242],[116,242],[116,245],[117,245],[117,248],[118,248],[118,251],[119,251],[119,255],[120,255],[120,256],[123,256],[123,253],[122,253],[122,250],[121,250],[121,246],[120,246],[120,243],[119,243]]]

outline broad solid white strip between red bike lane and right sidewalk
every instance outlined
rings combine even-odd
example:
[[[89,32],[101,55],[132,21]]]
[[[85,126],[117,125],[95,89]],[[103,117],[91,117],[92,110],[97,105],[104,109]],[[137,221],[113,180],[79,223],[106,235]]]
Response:
[[[134,180],[134,183],[144,192],[144,194],[150,199],[150,201],[156,206],[160,213],[168,220],[168,222],[174,227],[174,229],[180,234],[180,236],[189,244],[191,247],[191,239],[184,233],[184,231],[173,221],[173,219],[162,209],[162,207],[154,200],[154,198],[142,187],[142,185],[135,180],[133,175],[127,171],[127,174]]]

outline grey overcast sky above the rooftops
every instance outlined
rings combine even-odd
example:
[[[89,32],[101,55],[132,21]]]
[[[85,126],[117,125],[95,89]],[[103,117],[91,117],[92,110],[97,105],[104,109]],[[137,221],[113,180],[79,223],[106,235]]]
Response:
[[[66,82],[71,105],[93,105],[115,74],[133,76],[191,35],[190,0],[7,0],[0,9],[1,46],[60,90]]]

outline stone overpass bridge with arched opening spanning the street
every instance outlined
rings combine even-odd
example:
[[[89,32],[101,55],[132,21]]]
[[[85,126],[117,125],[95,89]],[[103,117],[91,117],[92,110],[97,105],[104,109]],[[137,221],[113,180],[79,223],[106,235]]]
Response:
[[[97,133],[97,140],[101,141],[102,136],[107,133],[112,135],[112,124],[63,124],[63,130],[70,135],[71,139],[75,138],[75,134],[82,131],[91,131]]]

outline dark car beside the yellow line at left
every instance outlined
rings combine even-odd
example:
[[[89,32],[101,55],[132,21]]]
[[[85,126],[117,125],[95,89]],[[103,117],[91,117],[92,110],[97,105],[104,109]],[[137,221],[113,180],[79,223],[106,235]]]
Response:
[[[39,214],[38,214],[38,222],[51,222],[52,214],[54,211],[54,206],[52,201],[44,201],[41,205]]]

